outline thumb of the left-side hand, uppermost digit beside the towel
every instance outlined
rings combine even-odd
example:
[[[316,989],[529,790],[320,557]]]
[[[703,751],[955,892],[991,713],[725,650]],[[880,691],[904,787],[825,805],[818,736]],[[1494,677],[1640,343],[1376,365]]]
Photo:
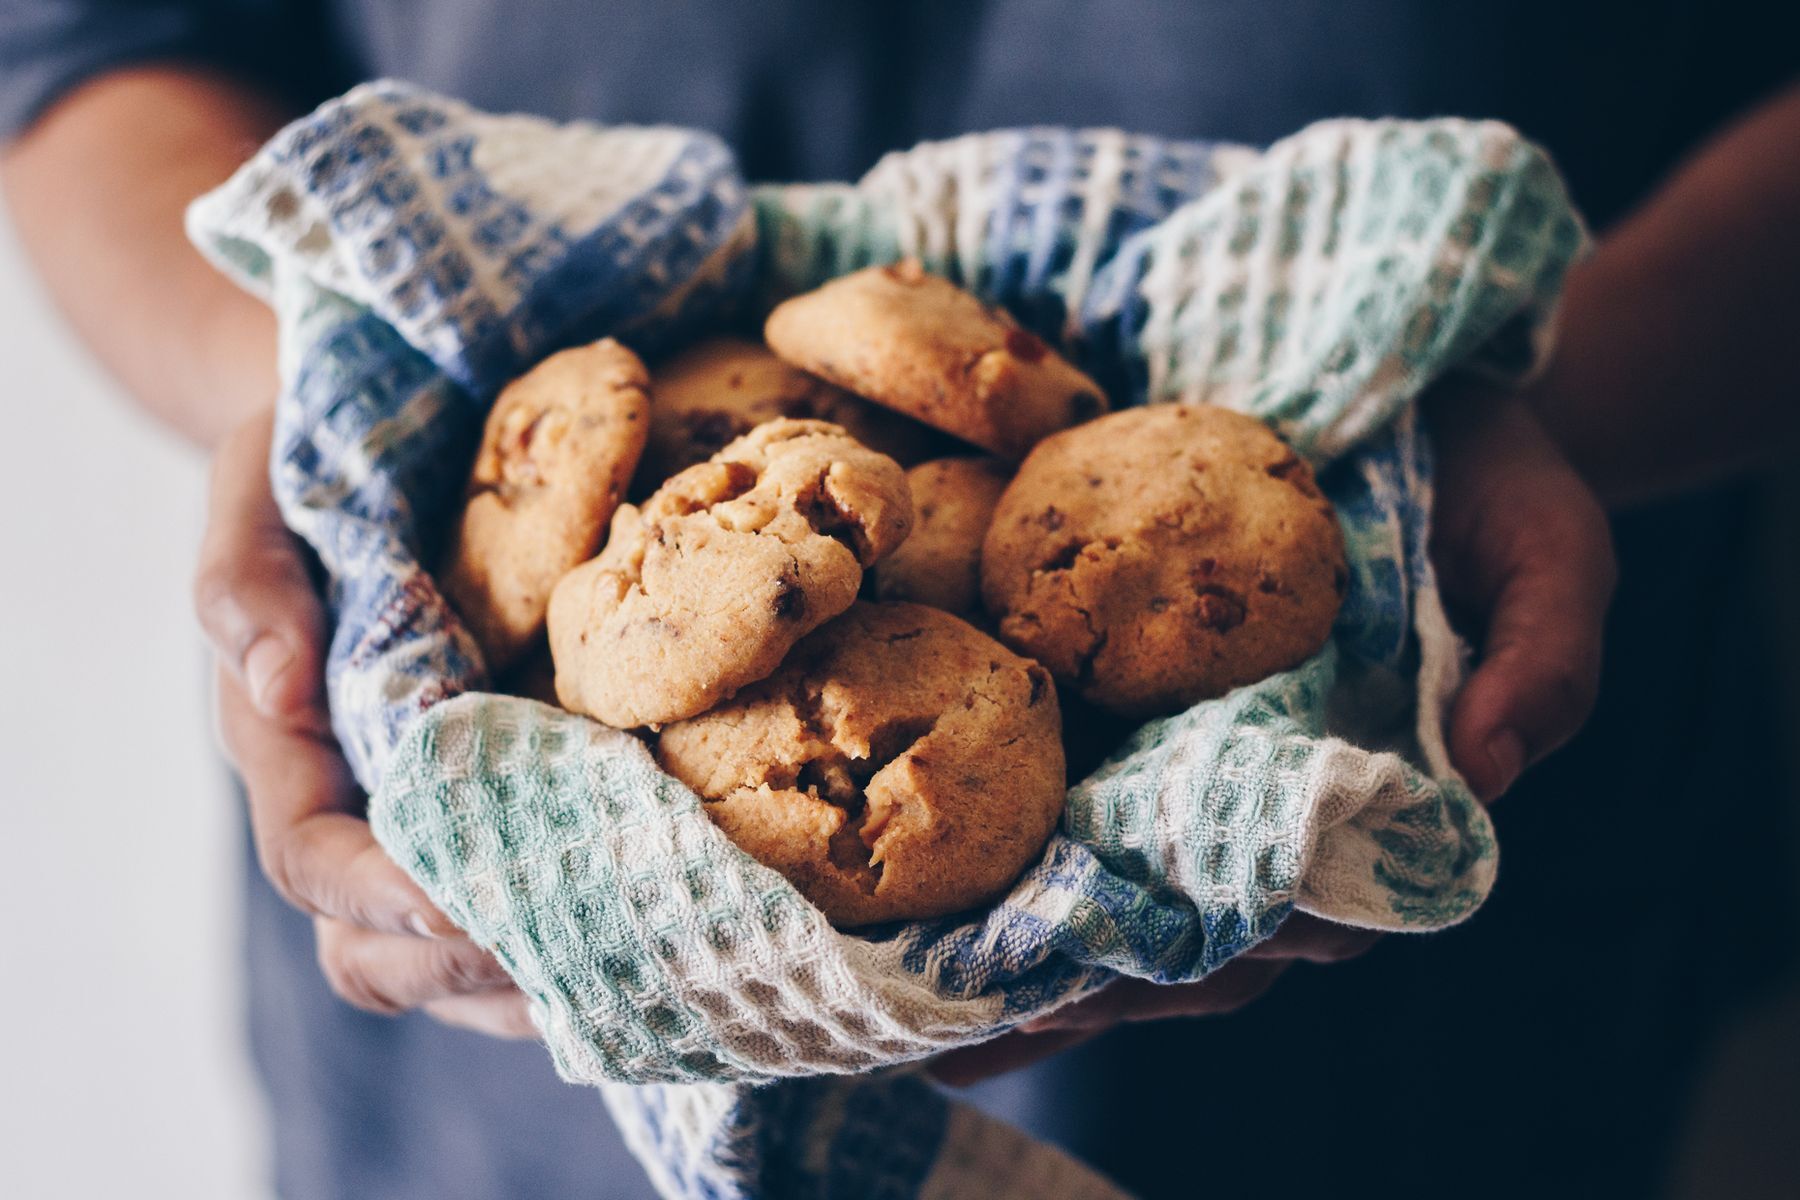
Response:
[[[268,716],[322,714],[326,619],[268,486],[274,414],[236,428],[212,459],[194,612],[220,658]]]

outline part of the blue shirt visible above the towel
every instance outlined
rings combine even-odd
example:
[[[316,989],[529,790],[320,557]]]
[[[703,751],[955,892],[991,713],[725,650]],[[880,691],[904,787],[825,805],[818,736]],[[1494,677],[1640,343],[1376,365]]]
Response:
[[[752,178],[855,178],[1010,124],[1267,142],[1336,115],[1499,117],[1598,221],[1796,58],[1771,0],[7,0],[0,135],[108,65],[185,58],[311,104],[396,76],[488,110],[713,130]]]

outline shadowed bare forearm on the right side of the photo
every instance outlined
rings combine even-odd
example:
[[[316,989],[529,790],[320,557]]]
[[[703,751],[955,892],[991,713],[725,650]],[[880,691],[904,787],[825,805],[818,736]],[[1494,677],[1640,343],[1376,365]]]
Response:
[[[1685,164],[1570,277],[1530,398],[1607,500],[1800,450],[1800,88]]]

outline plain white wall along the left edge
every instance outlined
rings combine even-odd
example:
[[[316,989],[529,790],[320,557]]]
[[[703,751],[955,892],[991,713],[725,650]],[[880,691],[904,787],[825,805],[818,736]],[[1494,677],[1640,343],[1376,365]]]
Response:
[[[4,228],[0,367],[0,1193],[266,1195],[187,608],[203,462],[86,362]]]

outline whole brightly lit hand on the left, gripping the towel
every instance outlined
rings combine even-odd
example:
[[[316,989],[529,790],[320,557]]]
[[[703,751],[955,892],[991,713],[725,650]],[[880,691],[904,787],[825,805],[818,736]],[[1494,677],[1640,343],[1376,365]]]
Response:
[[[506,972],[382,851],[331,738],[326,617],[268,488],[272,416],[220,443],[194,608],[218,651],[218,718],[243,777],[257,858],[313,916],[319,964],[356,1007],[531,1038]]]

